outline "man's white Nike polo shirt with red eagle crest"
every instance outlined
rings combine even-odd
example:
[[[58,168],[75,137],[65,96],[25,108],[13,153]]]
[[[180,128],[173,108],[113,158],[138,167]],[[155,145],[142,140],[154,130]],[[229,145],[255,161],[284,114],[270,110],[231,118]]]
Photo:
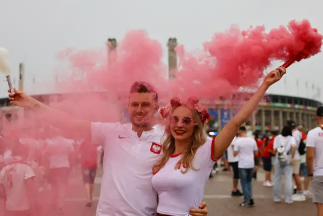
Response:
[[[162,135],[153,129],[138,137],[131,124],[92,123],[92,143],[104,148],[96,216],[155,215],[157,193],[151,176],[153,164],[161,155]]]

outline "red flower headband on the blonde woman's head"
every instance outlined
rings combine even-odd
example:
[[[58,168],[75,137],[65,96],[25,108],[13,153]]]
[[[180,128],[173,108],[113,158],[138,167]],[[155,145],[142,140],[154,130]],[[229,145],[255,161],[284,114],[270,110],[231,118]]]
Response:
[[[192,107],[192,109],[196,110],[196,112],[200,116],[200,120],[202,121],[202,123],[204,125],[207,124],[207,121],[209,120],[209,115],[207,113],[207,110],[204,109],[198,103],[198,98],[197,97],[190,97],[184,103],[181,102],[180,98],[173,97],[171,99],[171,102],[169,104],[167,104],[165,107],[163,107],[163,108],[160,109],[159,113],[160,113],[161,117],[163,117],[164,119],[166,119],[166,118],[168,118],[171,115],[172,109],[174,109],[175,107],[180,106],[182,104],[187,104],[190,107]]]

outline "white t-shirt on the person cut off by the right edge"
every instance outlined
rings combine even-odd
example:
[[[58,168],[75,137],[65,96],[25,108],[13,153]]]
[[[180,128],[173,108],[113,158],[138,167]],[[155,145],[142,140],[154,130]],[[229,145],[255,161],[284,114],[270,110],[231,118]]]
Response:
[[[313,175],[323,176],[323,130],[320,127],[307,133],[306,146],[315,148]]]

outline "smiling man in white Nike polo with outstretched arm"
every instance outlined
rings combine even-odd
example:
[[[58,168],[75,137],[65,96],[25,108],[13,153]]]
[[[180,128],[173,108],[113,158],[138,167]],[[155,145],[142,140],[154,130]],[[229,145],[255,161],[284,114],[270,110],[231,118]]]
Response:
[[[104,172],[96,216],[155,215],[157,193],[151,185],[152,166],[160,157],[164,134],[152,128],[158,97],[149,83],[135,82],[130,89],[129,116],[132,124],[91,123],[53,109],[15,89],[12,104],[29,107],[50,124],[65,130],[77,129],[84,138],[104,148]],[[191,215],[207,214],[192,209]]]

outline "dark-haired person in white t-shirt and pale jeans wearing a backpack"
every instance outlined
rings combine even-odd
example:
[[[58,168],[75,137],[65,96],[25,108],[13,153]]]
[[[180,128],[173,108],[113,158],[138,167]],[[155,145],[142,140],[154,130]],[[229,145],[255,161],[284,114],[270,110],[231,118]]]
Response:
[[[285,175],[285,203],[293,203],[293,164],[295,156],[295,139],[292,136],[292,128],[284,126],[282,133],[274,138],[275,177],[274,177],[274,202],[281,201],[282,178]]]

